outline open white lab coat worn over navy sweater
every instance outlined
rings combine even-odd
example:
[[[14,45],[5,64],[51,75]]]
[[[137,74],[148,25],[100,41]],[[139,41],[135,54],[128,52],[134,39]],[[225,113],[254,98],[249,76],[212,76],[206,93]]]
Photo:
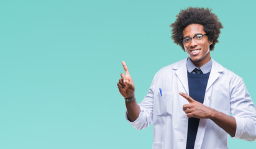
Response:
[[[182,107],[188,101],[179,94],[180,91],[189,94],[186,60],[165,66],[156,73],[147,96],[139,104],[137,120],[130,122],[126,114],[136,129],[153,124],[153,149],[186,148],[188,117]],[[244,81],[214,60],[203,104],[235,117],[234,138],[255,140],[256,111]],[[212,120],[200,119],[194,148],[227,148],[227,133]]]

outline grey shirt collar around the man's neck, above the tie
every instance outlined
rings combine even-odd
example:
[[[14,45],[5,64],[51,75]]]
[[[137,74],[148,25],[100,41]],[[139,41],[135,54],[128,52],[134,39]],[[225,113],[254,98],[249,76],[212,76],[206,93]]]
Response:
[[[211,66],[213,65],[213,60],[210,58],[208,63],[204,64],[200,67],[200,70],[203,71],[203,73],[209,73],[211,71]],[[188,57],[187,63],[186,63],[186,70],[188,70],[189,73],[191,73],[194,68],[198,68],[194,66],[190,58]]]

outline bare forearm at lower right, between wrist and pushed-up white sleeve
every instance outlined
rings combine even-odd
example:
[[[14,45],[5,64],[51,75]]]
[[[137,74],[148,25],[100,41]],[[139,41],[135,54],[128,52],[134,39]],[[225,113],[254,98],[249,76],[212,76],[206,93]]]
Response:
[[[209,119],[213,120],[215,124],[225,130],[227,133],[229,133],[231,137],[235,136],[237,125],[234,117],[213,109],[213,112],[211,112]]]

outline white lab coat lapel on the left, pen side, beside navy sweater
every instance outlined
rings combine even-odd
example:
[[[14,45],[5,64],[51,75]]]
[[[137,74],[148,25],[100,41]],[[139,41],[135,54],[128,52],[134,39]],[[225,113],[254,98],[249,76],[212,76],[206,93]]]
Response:
[[[179,61],[179,63],[176,63],[176,65],[173,66],[173,70],[175,70],[176,75],[180,79],[180,82],[183,85],[183,87],[185,88],[186,94],[189,94],[186,61],[187,61],[187,58]]]

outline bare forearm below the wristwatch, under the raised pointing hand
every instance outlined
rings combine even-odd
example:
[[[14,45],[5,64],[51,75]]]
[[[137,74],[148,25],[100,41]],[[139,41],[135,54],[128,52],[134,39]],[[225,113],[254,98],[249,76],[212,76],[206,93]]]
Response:
[[[133,101],[126,101],[127,116],[131,122],[134,122],[139,117],[140,107],[136,99]]]

